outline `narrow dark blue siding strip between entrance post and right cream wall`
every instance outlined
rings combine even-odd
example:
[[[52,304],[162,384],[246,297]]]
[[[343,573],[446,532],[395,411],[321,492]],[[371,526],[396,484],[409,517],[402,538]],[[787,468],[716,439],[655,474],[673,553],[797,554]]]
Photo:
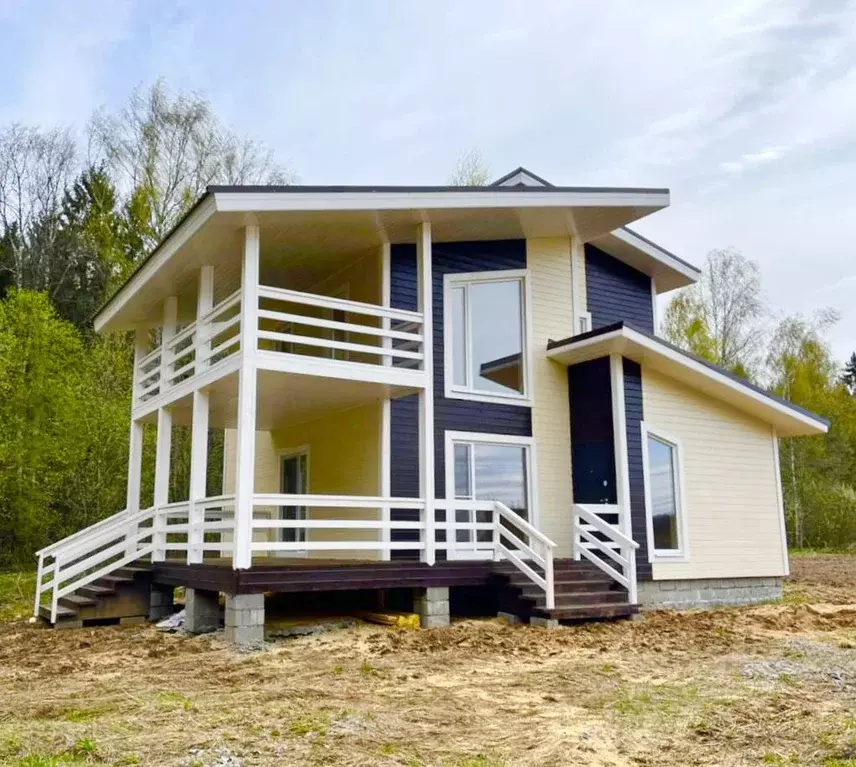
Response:
[[[630,524],[636,550],[636,577],[651,580],[648,561],[648,527],[645,517],[645,475],[642,470],[642,368],[624,359],[624,413],[627,429],[627,463],[630,475]]]

